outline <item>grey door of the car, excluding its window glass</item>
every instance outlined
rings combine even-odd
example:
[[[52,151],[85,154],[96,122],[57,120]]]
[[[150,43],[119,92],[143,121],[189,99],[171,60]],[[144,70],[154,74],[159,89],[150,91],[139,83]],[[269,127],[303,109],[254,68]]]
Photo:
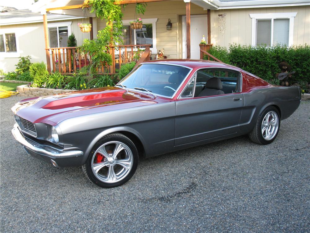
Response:
[[[193,92],[196,85],[200,84],[194,82]],[[175,146],[237,133],[243,108],[240,90],[218,96],[193,97],[196,94],[192,93],[191,98],[179,97],[176,101]]]

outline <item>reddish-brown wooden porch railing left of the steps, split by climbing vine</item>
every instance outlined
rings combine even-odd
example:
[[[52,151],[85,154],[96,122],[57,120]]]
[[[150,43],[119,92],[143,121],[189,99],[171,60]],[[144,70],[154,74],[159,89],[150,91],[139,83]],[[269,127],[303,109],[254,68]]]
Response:
[[[149,61],[150,46],[150,44],[109,46],[108,53],[112,56],[112,65],[102,63],[100,67],[96,67],[97,73],[111,75],[127,62],[139,59],[137,62],[139,64]],[[61,74],[73,74],[82,67],[92,64],[92,54],[85,53],[78,47],[46,48],[45,50],[47,70],[50,73],[58,71]]]

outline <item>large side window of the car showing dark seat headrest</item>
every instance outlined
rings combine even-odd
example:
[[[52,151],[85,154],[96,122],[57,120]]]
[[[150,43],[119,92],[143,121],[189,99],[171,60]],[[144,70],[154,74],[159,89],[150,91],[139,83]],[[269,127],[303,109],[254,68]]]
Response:
[[[226,69],[201,69],[197,72],[194,97],[232,94],[238,91],[239,73]]]

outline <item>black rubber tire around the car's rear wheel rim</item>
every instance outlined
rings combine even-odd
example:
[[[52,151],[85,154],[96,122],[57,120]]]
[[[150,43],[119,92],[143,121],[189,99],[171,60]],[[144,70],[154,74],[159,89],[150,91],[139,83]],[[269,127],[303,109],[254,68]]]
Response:
[[[278,126],[275,129],[276,131],[274,133],[272,133],[272,138],[266,140],[264,138],[263,133],[262,133],[262,123],[263,123],[264,117],[268,113],[270,113],[270,112],[277,114]],[[266,107],[263,110],[263,112],[259,115],[259,117],[258,117],[258,119],[256,121],[256,124],[255,124],[255,127],[249,133],[249,137],[250,137],[251,141],[255,142],[257,144],[261,144],[261,145],[267,145],[267,144],[272,143],[274,141],[274,139],[276,139],[276,137],[278,135],[278,132],[279,132],[279,129],[280,129],[280,123],[281,123],[280,114],[279,114],[279,111],[277,110],[277,108],[273,107],[273,106]]]

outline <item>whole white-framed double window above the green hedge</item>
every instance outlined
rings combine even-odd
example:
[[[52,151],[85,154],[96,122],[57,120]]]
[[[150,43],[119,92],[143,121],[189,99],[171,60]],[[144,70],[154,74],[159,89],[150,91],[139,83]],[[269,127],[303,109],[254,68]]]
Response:
[[[250,14],[252,46],[293,44],[294,17],[297,13]]]

